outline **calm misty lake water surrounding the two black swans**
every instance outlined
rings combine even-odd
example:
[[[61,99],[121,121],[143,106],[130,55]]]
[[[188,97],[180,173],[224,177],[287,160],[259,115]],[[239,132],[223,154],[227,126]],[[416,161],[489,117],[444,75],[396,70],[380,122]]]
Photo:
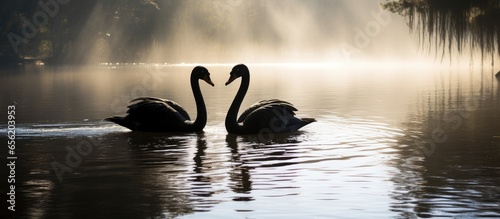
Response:
[[[231,65],[207,67],[216,86],[202,83],[205,131],[176,135],[102,119],[139,96],[172,99],[195,117],[190,66],[3,70],[4,145],[16,102],[17,216],[500,218],[491,70],[249,65],[243,107],[281,98],[318,122],[289,135],[234,136],[224,118],[239,81],[224,86]]]

